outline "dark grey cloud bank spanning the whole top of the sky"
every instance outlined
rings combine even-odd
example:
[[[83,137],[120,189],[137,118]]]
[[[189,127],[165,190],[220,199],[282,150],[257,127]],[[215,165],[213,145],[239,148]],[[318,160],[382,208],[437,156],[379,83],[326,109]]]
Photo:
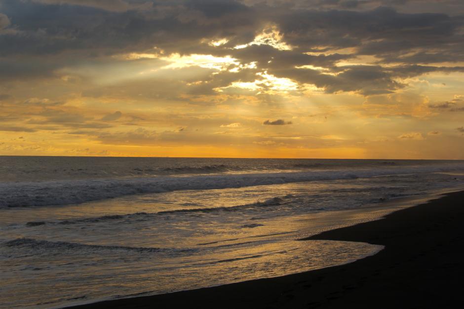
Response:
[[[214,94],[215,88],[233,81],[252,81],[257,72],[265,70],[277,77],[314,84],[329,93],[355,91],[364,95],[404,87],[398,78],[438,71],[464,72],[459,66],[417,65],[464,61],[464,16],[369,7],[419,3],[414,0],[309,1],[311,5],[234,0],[1,3],[1,81],[53,78],[64,67],[107,61],[102,59],[117,54],[153,53],[154,46],[165,54],[231,55],[242,63],[256,62],[255,69],[244,73],[210,75],[207,83],[188,88],[186,93],[191,95]],[[270,25],[293,46],[292,50],[265,44],[233,49],[249,43]],[[202,42],[222,38],[229,41],[218,47]],[[347,47],[351,53],[337,53],[337,49]],[[377,65],[337,66],[340,61],[362,55],[375,56]],[[296,68],[305,65],[323,70]]]

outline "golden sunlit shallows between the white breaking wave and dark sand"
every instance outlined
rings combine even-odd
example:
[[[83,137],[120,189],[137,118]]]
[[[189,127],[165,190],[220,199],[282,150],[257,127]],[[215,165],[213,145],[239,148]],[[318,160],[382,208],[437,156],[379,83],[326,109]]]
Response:
[[[7,209],[0,218],[0,307],[49,301],[42,307],[65,306],[348,263],[381,247],[296,239],[411,205],[395,200],[360,207],[385,192],[407,193],[401,182],[411,181],[387,177],[176,191]],[[204,209],[216,207],[223,208]],[[29,240],[14,240],[21,237]],[[7,303],[11,300],[17,303]]]

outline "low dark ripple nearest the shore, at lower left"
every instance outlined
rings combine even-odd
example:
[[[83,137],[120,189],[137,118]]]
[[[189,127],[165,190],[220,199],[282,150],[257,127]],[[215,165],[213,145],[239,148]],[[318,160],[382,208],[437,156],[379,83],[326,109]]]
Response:
[[[178,253],[178,252],[196,252],[197,249],[176,249],[176,248],[151,248],[151,247],[129,247],[129,246],[104,246],[104,245],[88,245],[75,242],[67,241],[48,241],[48,240],[38,240],[34,238],[17,238],[14,240],[5,241],[2,243],[3,247],[12,247],[12,248],[27,248],[32,250],[79,250],[79,251],[102,251],[102,250],[111,250],[111,251],[129,251],[129,252],[138,252],[138,253]]]

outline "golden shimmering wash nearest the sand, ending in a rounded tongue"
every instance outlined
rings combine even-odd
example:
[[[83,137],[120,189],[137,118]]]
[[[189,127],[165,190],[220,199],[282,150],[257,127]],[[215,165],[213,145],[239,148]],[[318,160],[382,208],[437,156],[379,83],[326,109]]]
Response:
[[[1,292],[1,302],[11,300],[10,293],[20,301],[6,303],[9,308],[32,307],[43,300],[53,302],[43,306],[49,308],[140,292],[159,294],[341,265],[381,248],[365,243],[282,240],[166,257],[123,249],[63,250],[57,245],[43,252],[33,249],[38,252],[18,266],[14,256],[25,248],[6,247],[4,252],[12,258],[6,259],[9,284]],[[20,270],[21,276],[15,276]]]

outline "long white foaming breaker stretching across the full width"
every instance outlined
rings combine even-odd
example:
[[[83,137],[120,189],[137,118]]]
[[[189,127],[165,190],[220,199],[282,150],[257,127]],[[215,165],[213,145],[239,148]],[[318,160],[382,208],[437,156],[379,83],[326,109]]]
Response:
[[[0,207],[78,204],[140,193],[209,190],[295,182],[371,178],[387,175],[462,171],[464,165],[322,170],[288,173],[140,177],[0,183]]]

